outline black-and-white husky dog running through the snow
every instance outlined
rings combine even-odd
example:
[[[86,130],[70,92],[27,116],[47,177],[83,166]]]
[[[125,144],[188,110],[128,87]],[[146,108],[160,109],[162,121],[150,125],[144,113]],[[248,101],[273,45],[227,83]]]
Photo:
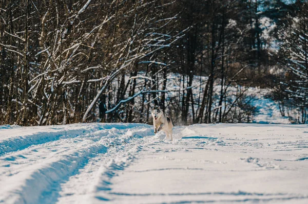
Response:
[[[170,118],[166,117],[164,112],[160,109],[159,106],[154,106],[152,109],[154,133],[157,133],[160,130],[166,132],[166,138],[169,138],[172,141],[172,121]]]

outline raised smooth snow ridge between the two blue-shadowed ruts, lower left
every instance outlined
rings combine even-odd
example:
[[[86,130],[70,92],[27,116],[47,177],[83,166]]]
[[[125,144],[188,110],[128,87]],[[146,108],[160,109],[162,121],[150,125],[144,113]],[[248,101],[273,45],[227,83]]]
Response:
[[[107,147],[102,144],[85,142],[89,143],[86,147],[70,150],[42,163],[29,165],[16,176],[10,176],[4,180],[4,183],[11,183],[11,185],[9,188],[3,189],[0,202],[36,203],[45,190],[54,183],[67,179],[76,169],[81,168],[87,162],[88,157],[107,150]],[[3,186],[1,182],[0,185]]]

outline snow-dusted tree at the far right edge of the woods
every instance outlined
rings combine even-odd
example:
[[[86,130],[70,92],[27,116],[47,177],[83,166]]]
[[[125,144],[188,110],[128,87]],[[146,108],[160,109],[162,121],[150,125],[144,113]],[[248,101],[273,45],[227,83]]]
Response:
[[[279,49],[279,65],[284,76],[275,87],[274,96],[280,102],[283,116],[294,123],[307,123],[308,116],[308,4],[297,1],[293,11],[285,18],[288,24],[280,30],[278,39],[283,42]]]

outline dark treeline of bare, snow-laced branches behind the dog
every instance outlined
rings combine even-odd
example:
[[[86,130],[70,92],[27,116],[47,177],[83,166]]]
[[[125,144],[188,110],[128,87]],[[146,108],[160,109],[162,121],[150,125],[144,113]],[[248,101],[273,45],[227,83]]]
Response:
[[[306,7],[0,0],[0,124],[147,123],[153,105],[178,124],[251,122],[250,86],[305,123]]]

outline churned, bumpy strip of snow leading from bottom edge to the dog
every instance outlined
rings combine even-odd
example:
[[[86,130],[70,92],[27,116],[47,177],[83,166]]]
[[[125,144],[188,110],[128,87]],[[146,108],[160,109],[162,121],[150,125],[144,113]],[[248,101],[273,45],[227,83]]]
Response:
[[[70,177],[66,183],[61,185],[62,189],[57,203],[108,200],[108,196],[105,196],[105,192],[109,190],[111,184],[108,180],[133,162],[134,155],[142,150],[142,145],[148,140],[146,136],[149,135],[153,135],[152,128],[149,126],[128,129],[127,132],[123,131],[117,137],[123,143],[111,146],[108,152],[101,155],[99,161],[95,162],[94,166],[99,168],[93,169],[93,164],[89,164],[89,167],[81,169],[78,174]]]

